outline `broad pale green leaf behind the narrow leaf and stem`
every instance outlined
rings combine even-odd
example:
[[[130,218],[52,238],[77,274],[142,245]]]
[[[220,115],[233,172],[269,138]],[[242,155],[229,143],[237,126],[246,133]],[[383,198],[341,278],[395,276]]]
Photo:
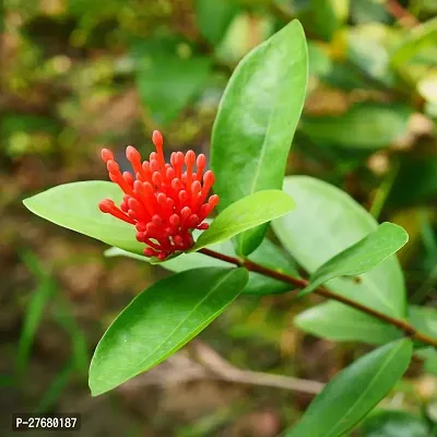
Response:
[[[272,226],[285,249],[309,273],[378,228],[354,199],[322,180],[291,176],[285,178],[284,191],[293,194],[297,206]],[[403,275],[394,256],[359,275],[358,281],[339,277],[326,286],[390,316],[405,316]]]

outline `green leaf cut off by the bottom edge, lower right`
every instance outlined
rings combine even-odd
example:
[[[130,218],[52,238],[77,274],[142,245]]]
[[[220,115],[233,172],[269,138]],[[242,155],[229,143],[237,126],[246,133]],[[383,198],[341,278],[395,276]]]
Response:
[[[412,341],[402,339],[357,359],[327,385],[286,437],[344,435],[389,393],[412,352]]]

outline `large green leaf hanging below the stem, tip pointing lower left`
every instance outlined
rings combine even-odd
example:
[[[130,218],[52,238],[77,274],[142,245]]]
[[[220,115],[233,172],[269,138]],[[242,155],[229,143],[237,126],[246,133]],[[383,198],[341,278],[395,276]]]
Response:
[[[163,362],[240,294],[245,269],[203,268],[162,280],[137,296],[105,332],[90,367],[93,395]]]

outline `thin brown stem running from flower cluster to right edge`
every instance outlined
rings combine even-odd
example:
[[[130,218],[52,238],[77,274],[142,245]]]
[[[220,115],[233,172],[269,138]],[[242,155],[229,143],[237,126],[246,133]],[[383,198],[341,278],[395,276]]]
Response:
[[[296,286],[297,288],[305,288],[308,284],[309,281],[304,280],[304,279],[299,279],[299,277],[294,277],[291,276],[290,274],[286,273],[281,273],[277,272],[275,270],[271,270],[267,267],[257,264],[250,260],[241,260],[239,258],[235,258],[235,257],[229,257],[227,255],[223,255],[223,253],[218,253],[214,250],[211,249],[201,249],[199,250],[201,253],[203,255],[208,255],[209,257],[213,257],[216,259],[220,259],[222,261],[226,261],[229,262],[232,264],[238,265],[238,267],[244,267],[245,269],[255,272],[255,273],[259,273],[262,274],[264,276],[269,276],[269,277],[273,277],[277,281],[282,281],[282,282],[286,282],[288,284],[292,284],[294,286]],[[423,343],[426,344],[430,344],[435,347],[437,347],[437,340],[433,339],[422,332],[418,332],[412,324],[410,324],[406,320],[403,319],[398,319],[395,317],[391,317],[388,316],[383,312],[379,312],[374,308],[367,307],[365,305],[359,304],[358,302],[355,302],[353,299],[350,299],[349,297],[345,296],[341,296],[336,293],[332,293],[330,292],[328,288],[324,287],[318,287],[315,290],[316,294],[318,294],[319,296],[323,296],[327,297],[328,299],[333,299],[336,302],[340,302],[344,305],[347,305],[352,308],[355,308],[362,312],[366,312],[371,317],[375,317],[379,320],[382,320],[386,323],[392,324],[394,327],[397,327],[398,329],[402,330],[405,334],[408,334],[409,336],[412,336]]]

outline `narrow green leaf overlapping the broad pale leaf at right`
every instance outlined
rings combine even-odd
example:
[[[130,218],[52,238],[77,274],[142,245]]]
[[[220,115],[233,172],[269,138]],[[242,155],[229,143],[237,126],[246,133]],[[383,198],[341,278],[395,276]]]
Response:
[[[310,276],[309,285],[298,296],[315,291],[324,282],[339,276],[353,276],[375,269],[395,253],[409,240],[409,234],[393,223],[382,223],[355,245],[335,255]]]

